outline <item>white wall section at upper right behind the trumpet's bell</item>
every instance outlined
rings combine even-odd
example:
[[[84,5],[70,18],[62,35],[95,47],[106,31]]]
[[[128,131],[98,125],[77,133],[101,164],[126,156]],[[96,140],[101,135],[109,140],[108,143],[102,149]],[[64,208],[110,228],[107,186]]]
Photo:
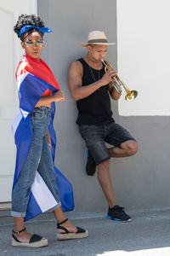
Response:
[[[122,96],[119,114],[170,115],[170,1],[116,3],[118,73],[130,90],[139,92],[133,102]]]

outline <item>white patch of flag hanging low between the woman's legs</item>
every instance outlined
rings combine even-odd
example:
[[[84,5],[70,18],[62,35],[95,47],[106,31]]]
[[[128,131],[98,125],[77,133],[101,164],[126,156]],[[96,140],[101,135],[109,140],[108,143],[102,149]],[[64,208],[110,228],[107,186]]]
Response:
[[[58,202],[54,199],[54,195],[49,191],[48,186],[44,183],[39,172],[36,172],[34,183],[31,186],[31,192],[42,212],[46,212],[58,205]]]

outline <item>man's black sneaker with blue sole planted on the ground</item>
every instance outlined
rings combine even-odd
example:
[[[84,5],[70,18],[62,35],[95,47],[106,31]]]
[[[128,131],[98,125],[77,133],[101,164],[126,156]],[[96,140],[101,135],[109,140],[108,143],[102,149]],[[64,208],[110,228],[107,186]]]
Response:
[[[119,207],[118,205],[112,208],[109,207],[107,218],[111,220],[124,221],[124,222],[132,221],[132,218],[128,216],[123,209],[124,207]]]

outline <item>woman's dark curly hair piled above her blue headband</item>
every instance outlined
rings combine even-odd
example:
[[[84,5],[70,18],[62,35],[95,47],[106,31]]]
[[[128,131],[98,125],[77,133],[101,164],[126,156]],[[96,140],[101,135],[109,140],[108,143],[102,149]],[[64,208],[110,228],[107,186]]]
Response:
[[[36,15],[20,15],[19,19],[16,22],[16,25],[14,26],[14,32],[17,33],[18,37],[20,38],[21,41],[24,40],[24,38],[26,37],[26,32],[24,32],[21,37],[19,36],[20,33],[20,29],[23,26],[44,26],[44,23],[42,21],[42,19],[39,16]],[[37,28],[31,28],[31,30],[29,30],[29,33],[31,32],[39,32],[41,34],[41,36],[43,36],[43,33],[40,32]]]

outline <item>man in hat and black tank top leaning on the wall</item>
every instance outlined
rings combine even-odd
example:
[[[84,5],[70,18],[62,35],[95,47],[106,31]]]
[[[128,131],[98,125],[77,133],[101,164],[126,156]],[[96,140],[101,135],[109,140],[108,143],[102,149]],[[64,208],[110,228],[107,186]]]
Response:
[[[93,31],[88,34],[88,54],[69,67],[69,88],[72,98],[77,102],[78,118],[82,138],[88,147],[86,172],[93,176],[98,166],[98,179],[109,204],[107,218],[131,221],[113,195],[109,172],[111,157],[126,157],[138,150],[135,139],[121,125],[115,123],[111,112],[111,99],[118,100],[120,94],[113,86],[116,70],[105,73],[101,60],[105,60],[107,45],[110,45],[105,32]],[[107,61],[107,64],[108,61]],[[110,143],[111,148],[106,148]]]

